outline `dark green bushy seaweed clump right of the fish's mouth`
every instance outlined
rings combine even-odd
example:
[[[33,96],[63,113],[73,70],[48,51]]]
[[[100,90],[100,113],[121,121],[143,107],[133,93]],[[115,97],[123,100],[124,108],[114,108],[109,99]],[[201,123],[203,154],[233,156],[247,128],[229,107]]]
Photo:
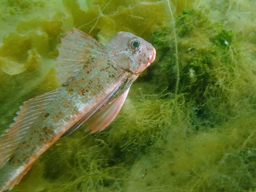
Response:
[[[232,89],[236,76],[233,58],[239,50],[233,41],[235,34],[195,10],[185,10],[175,25],[180,71],[178,93],[184,95],[187,103],[194,103],[191,115],[202,118],[205,125],[225,121],[225,116],[221,117],[218,111],[225,110],[228,111],[226,115],[234,115],[233,106],[227,104],[232,91],[227,90]],[[144,78],[152,81],[158,92],[164,89],[174,92],[177,66],[172,28],[154,32],[152,43],[158,53],[158,64],[149,68]],[[226,104],[219,108],[222,103]]]

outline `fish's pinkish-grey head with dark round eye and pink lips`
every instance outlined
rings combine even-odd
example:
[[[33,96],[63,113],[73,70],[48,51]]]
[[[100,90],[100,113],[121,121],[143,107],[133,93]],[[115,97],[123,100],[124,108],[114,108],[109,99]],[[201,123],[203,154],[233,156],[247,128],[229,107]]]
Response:
[[[105,47],[118,68],[135,75],[140,75],[156,58],[152,44],[129,32],[118,32]]]

